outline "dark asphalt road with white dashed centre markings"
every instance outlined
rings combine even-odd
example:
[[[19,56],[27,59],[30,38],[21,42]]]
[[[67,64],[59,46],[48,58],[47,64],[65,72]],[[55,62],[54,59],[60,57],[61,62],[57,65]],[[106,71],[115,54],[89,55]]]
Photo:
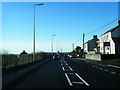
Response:
[[[120,88],[118,68],[63,57],[51,60],[14,88]]]

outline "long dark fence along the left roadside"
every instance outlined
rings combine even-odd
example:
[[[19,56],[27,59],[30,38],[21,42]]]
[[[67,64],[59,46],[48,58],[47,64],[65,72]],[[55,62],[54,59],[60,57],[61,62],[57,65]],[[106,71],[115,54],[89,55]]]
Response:
[[[25,65],[28,63],[41,61],[50,58],[50,55],[35,55],[35,61],[33,61],[33,55],[23,54],[23,55],[2,55],[2,69],[9,69],[11,67],[16,67],[20,65]]]

